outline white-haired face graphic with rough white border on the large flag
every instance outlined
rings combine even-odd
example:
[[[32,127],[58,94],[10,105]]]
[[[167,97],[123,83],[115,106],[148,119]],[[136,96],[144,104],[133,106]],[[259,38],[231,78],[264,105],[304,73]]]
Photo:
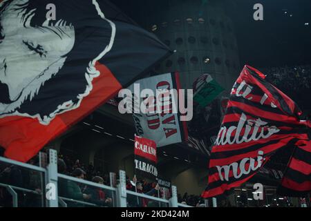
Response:
[[[36,117],[49,124],[55,115],[79,107],[100,74],[96,62],[113,47],[115,24],[104,17],[96,1],[85,3],[88,7],[83,10],[72,7],[70,12],[55,1],[55,21],[44,16],[49,2],[1,3],[0,117]],[[100,27],[82,30],[86,15],[92,15]],[[95,28],[106,30],[107,35],[98,46],[92,41]],[[82,47],[85,51],[80,55]],[[79,64],[73,63],[76,59]],[[77,74],[70,75],[73,72]],[[73,81],[79,85],[70,87]],[[42,99],[42,94],[57,91],[59,84],[68,89],[57,100]]]

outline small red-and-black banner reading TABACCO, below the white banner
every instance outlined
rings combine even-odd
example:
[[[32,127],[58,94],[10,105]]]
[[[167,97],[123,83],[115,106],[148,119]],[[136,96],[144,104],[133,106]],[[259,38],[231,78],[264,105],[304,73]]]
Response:
[[[134,155],[135,173],[156,180],[158,177],[156,142],[135,135]]]

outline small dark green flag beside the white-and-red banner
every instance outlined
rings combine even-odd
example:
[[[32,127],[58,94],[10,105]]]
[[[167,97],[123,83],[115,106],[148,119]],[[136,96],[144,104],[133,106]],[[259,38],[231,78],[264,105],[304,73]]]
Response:
[[[202,107],[205,107],[225,90],[220,84],[214,80],[211,75],[204,74],[194,82],[196,93],[194,100]]]

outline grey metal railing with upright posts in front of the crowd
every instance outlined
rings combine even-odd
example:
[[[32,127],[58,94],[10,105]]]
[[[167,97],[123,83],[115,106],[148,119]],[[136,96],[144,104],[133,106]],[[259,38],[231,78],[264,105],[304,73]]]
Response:
[[[20,186],[12,186],[10,184],[3,184],[0,181],[0,186],[2,186],[3,188],[6,188],[8,193],[12,195],[12,205],[14,207],[18,206],[18,194],[16,191],[23,191],[26,193],[42,195],[42,198],[43,196],[46,196],[45,203],[43,203],[43,206],[48,206],[48,207],[58,207],[58,206],[68,207],[70,206],[70,204],[81,204],[83,206],[102,206],[102,205],[94,204],[93,202],[87,202],[87,201],[82,201],[79,199],[68,198],[67,195],[59,195],[59,192],[58,192],[59,191],[59,186],[58,186],[59,179],[64,179],[66,181],[71,181],[71,182],[77,182],[79,184],[84,184],[91,188],[102,189],[104,191],[111,191],[113,206],[118,206],[118,207],[128,206],[127,200],[129,199],[127,198],[127,196],[131,195],[131,196],[135,196],[136,198],[144,198],[147,200],[152,200],[153,202],[158,202],[159,206],[161,206],[162,204],[165,204],[169,207],[178,207],[178,206],[191,207],[185,204],[178,203],[176,186],[171,186],[172,196],[169,200],[154,197],[154,196],[147,195],[144,193],[138,193],[135,191],[126,190],[125,171],[119,171],[120,180],[117,183],[116,187],[113,186],[116,184],[116,182],[112,182],[112,181],[111,181],[111,186],[107,186],[104,184],[97,184],[95,182],[90,182],[87,180],[82,180],[76,177],[71,177],[68,175],[58,173],[57,172],[57,160],[58,160],[57,151],[52,150],[52,149],[50,149],[49,151],[50,151],[49,160],[48,160],[49,163],[46,165],[46,168],[40,167],[40,166],[34,166],[30,164],[25,164],[25,163],[17,162],[15,160],[9,160],[7,158],[0,157],[0,163],[21,166],[23,168],[30,169],[31,171],[40,172],[41,174],[41,185],[43,186],[43,188],[41,189],[41,193],[38,193],[37,191],[33,191],[30,189],[22,188]],[[42,164],[40,163],[40,165]],[[115,174],[111,173],[111,177],[115,177]]]

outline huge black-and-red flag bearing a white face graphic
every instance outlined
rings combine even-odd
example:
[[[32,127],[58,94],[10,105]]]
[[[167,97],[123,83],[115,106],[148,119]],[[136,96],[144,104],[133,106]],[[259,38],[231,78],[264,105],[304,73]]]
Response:
[[[22,162],[171,53],[104,0],[3,0],[0,12],[0,146]]]

